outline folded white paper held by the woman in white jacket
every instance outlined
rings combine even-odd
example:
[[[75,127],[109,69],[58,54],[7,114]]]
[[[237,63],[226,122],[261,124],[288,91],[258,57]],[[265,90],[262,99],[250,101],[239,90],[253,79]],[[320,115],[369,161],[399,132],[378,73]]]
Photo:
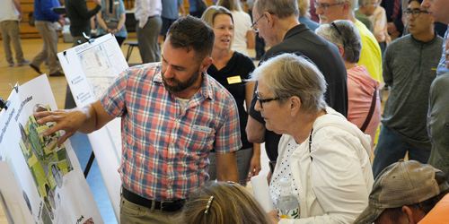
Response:
[[[251,177],[251,185],[254,191],[254,197],[260,202],[263,210],[267,213],[274,210],[273,201],[271,201],[271,196],[269,195],[267,176],[258,175],[256,177]]]

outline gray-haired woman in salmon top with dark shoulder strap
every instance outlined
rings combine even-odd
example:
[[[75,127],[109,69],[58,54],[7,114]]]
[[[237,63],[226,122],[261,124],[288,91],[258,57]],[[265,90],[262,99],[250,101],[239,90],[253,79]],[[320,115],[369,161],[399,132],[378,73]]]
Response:
[[[371,136],[371,146],[381,122],[379,82],[368,73],[365,65],[358,66],[362,42],[354,22],[339,20],[323,24],[316,34],[339,47],[348,73],[348,121]]]

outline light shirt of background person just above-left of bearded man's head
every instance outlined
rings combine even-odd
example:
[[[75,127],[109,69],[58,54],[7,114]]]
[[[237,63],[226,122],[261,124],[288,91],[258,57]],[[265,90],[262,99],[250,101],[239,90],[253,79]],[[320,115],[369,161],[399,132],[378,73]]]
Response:
[[[134,16],[139,22],[139,27],[144,28],[148,17],[161,15],[163,12],[163,4],[161,0],[136,0],[134,4]]]

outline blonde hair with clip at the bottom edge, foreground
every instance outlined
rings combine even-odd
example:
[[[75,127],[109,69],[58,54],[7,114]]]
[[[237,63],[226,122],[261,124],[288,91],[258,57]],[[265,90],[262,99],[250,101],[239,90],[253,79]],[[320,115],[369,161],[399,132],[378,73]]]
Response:
[[[209,182],[184,204],[180,223],[269,224],[267,213],[242,185]]]

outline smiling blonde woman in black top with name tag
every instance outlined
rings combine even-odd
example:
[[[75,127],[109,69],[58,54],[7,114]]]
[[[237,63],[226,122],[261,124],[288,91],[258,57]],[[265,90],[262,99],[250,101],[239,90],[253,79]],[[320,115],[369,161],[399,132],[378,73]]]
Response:
[[[250,107],[254,82],[246,82],[250,73],[254,70],[254,64],[248,56],[231,50],[233,41],[233,15],[221,6],[210,6],[201,18],[214,29],[216,36],[213,62],[207,69],[207,73],[220,82],[226,90],[233,95],[240,115],[240,128],[242,134],[242,148],[237,151],[237,168],[239,169],[239,181],[246,185],[248,175],[258,175],[260,171],[260,144],[248,142],[245,128],[248,121],[246,108]],[[209,176],[216,179],[216,152],[209,154]]]

